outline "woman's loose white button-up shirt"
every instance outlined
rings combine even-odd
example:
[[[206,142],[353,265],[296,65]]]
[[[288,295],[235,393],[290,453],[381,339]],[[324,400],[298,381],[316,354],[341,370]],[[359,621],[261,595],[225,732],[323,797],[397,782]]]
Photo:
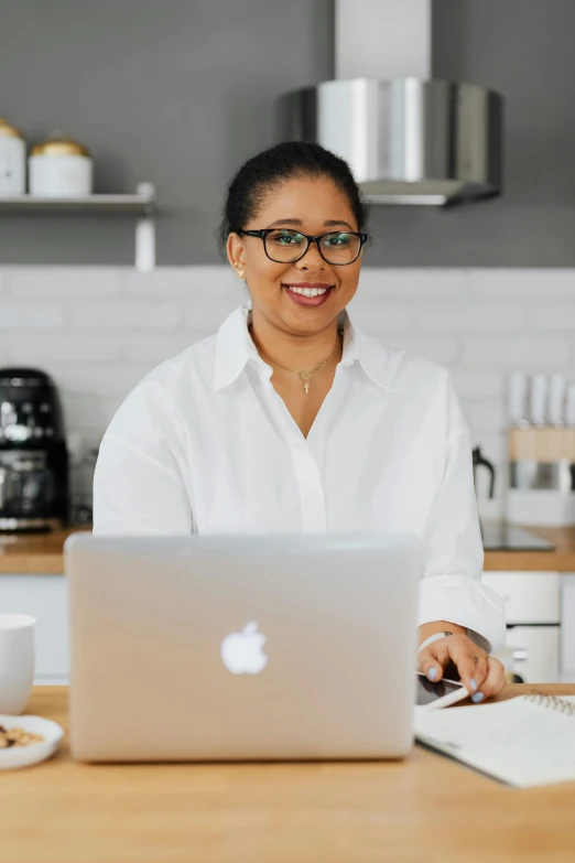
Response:
[[[341,360],[304,438],[250,314],[247,302],[130,392],[100,446],[94,532],[414,533],[425,558],[420,625],[449,621],[501,645],[502,604],[480,581],[469,430],[448,373],[343,312]]]

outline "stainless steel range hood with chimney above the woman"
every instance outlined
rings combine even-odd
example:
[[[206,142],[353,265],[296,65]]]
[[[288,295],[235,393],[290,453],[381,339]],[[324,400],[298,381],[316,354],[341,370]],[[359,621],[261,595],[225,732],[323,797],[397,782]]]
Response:
[[[341,155],[376,204],[499,195],[502,98],[430,79],[430,0],[336,0],[337,78],[280,98],[282,140]]]

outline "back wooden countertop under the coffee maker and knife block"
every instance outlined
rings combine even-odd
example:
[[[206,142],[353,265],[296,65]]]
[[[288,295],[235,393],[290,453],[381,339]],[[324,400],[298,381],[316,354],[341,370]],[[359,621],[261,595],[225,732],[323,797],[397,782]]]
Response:
[[[2,573],[62,573],[66,537],[82,526],[52,533],[0,533],[0,575]],[[575,528],[528,528],[550,540],[555,551],[486,551],[485,571],[575,572]]]

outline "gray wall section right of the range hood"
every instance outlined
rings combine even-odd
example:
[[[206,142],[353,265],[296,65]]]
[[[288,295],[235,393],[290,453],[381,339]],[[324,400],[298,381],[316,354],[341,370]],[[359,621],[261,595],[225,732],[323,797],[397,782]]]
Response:
[[[574,34],[573,0],[434,0],[434,76],[506,98],[503,196],[447,211],[373,209],[378,263],[575,265]]]

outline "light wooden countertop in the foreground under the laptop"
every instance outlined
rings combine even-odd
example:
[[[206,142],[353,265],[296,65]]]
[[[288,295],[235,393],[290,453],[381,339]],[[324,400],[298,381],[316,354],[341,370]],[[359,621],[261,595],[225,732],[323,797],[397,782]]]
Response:
[[[506,697],[525,691],[575,687]],[[66,690],[35,689],[29,712],[66,727]],[[387,763],[85,765],[65,742],[0,788],[7,863],[575,860],[575,783],[517,790],[420,747]]]

